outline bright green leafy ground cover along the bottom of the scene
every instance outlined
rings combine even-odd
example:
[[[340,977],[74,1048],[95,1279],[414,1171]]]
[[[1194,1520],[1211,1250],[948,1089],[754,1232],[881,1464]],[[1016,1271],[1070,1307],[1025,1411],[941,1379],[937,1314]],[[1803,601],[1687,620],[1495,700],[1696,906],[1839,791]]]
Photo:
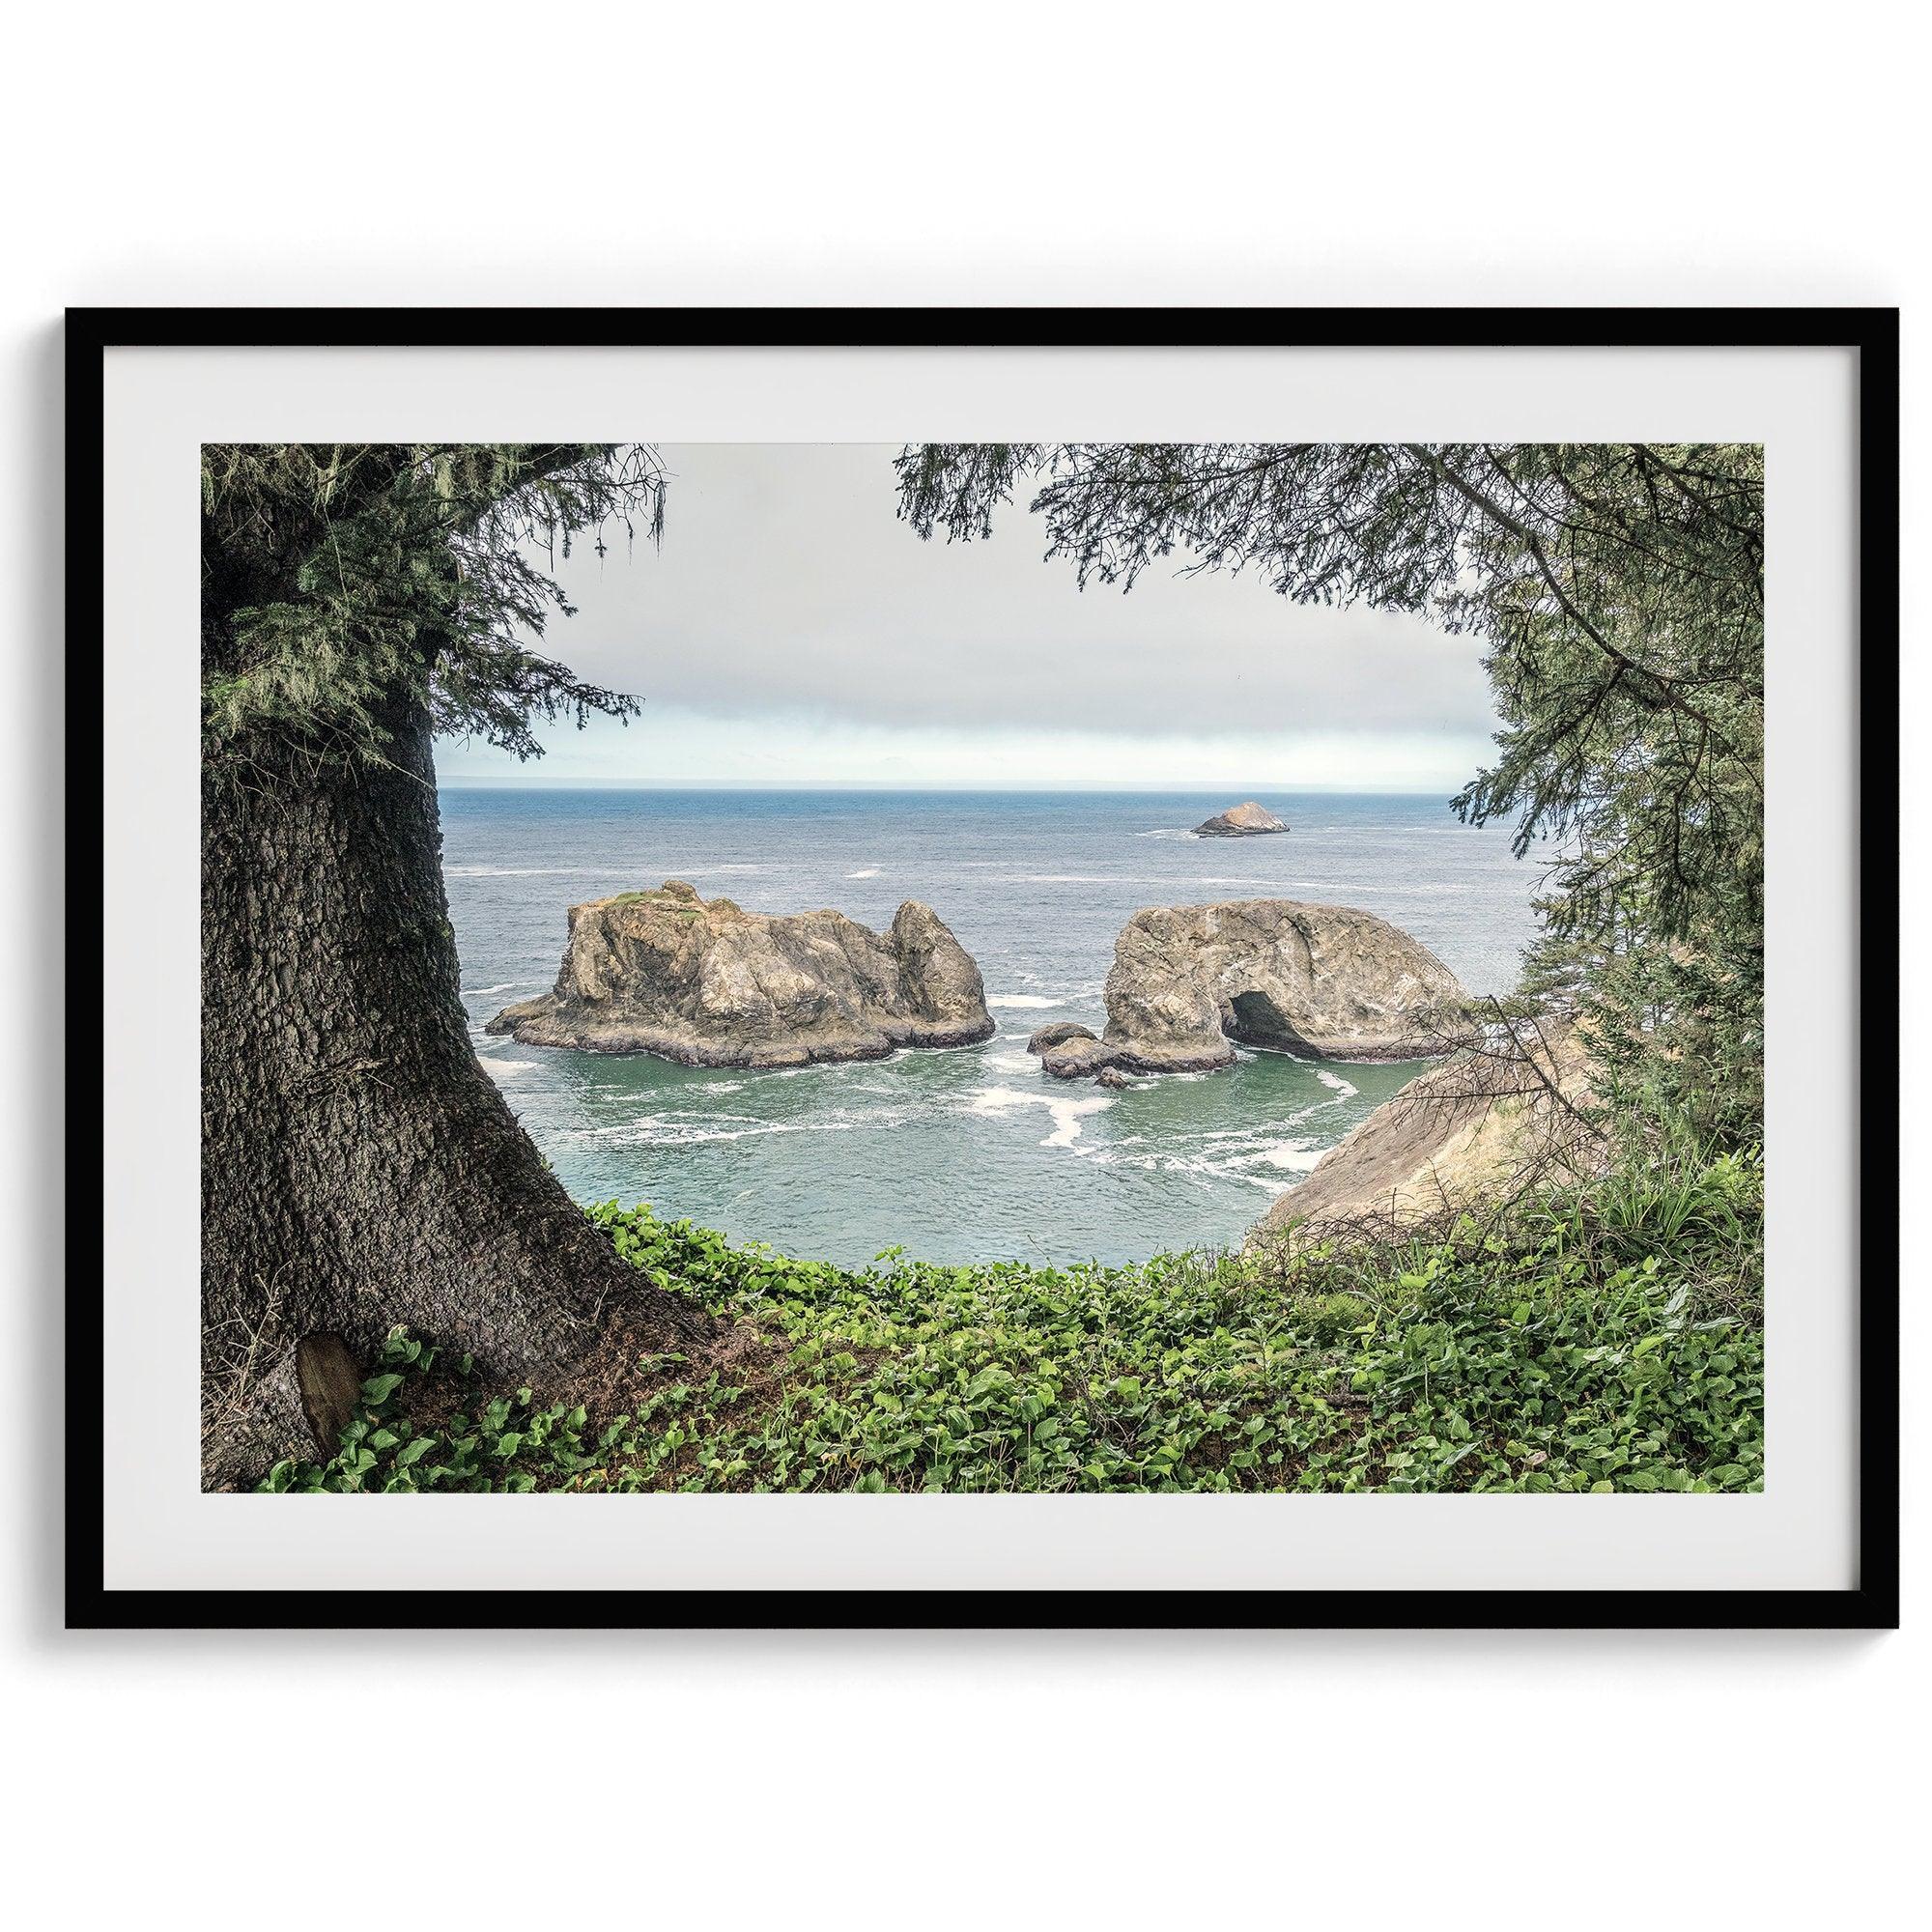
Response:
[[[1764,1480],[1762,1171],[1679,1161],[1430,1238],[1132,1267],[866,1269],[591,1209],[734,1323],[622,1410],[396,1333],[267,1490],[1619,1492]]]

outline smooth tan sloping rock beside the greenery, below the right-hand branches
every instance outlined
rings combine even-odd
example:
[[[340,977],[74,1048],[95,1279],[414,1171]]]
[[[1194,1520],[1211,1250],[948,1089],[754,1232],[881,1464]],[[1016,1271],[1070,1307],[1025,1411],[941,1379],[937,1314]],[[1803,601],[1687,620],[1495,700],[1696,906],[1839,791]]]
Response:
[[[1571,1028],[1522,1028],[1432,1066],[1279,1196],[1250,1244],[1399,1227],[1493,1206],[1532,1179],[1602,1171],[1590,1057]]]

